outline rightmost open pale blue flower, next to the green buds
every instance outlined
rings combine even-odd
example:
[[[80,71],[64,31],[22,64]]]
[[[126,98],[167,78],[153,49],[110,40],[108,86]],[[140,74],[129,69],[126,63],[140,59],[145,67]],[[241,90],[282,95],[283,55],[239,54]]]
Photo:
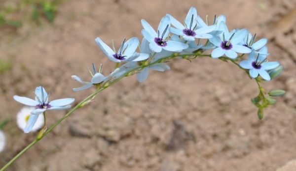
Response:
[[[249,74],[252,78],[257,78],[260,75],[264,80],[269,81],[270,76],[266,70],[271,70],[280,65],[279,62],[268,62],[266,55],[261,55],[252,51],[248,56],[248,60],[242,60],[239,65],[242,68],[250,69]]]

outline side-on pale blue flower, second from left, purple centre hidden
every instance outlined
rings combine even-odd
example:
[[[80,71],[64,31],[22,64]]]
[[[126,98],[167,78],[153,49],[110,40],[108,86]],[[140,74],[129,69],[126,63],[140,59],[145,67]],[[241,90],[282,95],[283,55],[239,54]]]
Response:
[[[119,72],[119,68],[116,68],[109,76],[106,77],[101,73],[102,72],[102,65],[100,67],[99,72],[97,72],[94,64],[93,64],[93,73],[90,70],[89,70],[89,72],[92,76],[90,82],[84,82],[76,75],[71,76],[75,81],[77,81],[78,83],[83,85],[78,88],[73,88],[74,91],[84,90],[84,89],[90,88],[94,85],[99,85],[101,83],[105,83],[111,79],[116,79],[124,74],[124,72]]]

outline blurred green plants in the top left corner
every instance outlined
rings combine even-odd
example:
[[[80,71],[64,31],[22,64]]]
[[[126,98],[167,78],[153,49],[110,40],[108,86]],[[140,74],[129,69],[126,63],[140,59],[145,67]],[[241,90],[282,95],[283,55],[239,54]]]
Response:
[[[6,2],[3,0],[0,5],[0,26],[18,28],[30,19],[37,23],[41,18],[53,22],[57,6],[62,0],[6,0]]]

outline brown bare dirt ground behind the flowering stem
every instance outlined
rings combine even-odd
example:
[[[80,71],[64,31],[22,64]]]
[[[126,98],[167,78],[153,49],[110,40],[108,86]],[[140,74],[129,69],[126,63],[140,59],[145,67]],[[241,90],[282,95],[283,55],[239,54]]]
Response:
[[[0,119],[11,118],[0,166],[36,136],[17,128],[22,105],[13,95],[33,97],[43,85],[51,99],[78,102],[94,89],[73,92],[79,84],[71,75],[88,80],[92,62],[104,73],[113,68],[97,36],[119,46],[124,37],[142,38],[142,18],[155,28],[166,13],[182,21],[191,6],[269,39],[269,58],[285,70],[264,87],[287,94],[263,120],[250,102],[257,85],[243,71],[218,59],[176,59],[142,84],[131,76],[106,89],[7,171],[275,171],[296,159],[295,0],[68,0],[51,25],[0,30],[0,57],[13,61],[0,75]],[[65,113],[48,112],[48,125]]]

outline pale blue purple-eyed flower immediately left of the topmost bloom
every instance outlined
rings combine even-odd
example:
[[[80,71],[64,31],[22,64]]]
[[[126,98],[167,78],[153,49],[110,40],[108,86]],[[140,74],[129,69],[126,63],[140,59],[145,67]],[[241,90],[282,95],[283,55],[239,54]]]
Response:
[[[178,52],[188,48],[188,45],[185,43],[167,40],[169,37],[169,28],[170,28],[170,18],[168,16],[164,16],[157,28],[156,31],[145,21],[144,19],[141,20],[143,36],[149,42],[149,48],[151,51],[155,53],[159,53],[162,49],[170,52]]]

